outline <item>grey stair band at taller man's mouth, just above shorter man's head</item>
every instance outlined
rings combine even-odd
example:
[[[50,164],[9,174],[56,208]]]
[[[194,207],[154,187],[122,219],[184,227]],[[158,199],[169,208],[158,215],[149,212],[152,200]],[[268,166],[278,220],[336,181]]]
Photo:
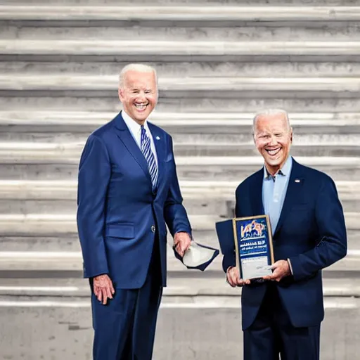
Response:
[[[60,96],[61,95],[61,96]],[[54,112],[62,112],[64,109],[72,111],[112,111],[119,113],[120,101],[114,89],[113,96],[110,98],[89,98],[86,96],[69,96],[67,94],[56,94],[52,97],[49,92],[43,97],[27,97],[26,91],[18,92],[14,97],[0,97],[1,110],[38,110],[47,109]],[[183,94],[184,95],[184,94]],[[187,96],[187,95],[186,95]],[[207,111],[219,113],[219,109],[226,113],[256,113],[266,108],[283,108],[291,113],[301,113],[306,109],[308,112],[334,113],[360,112],[360,102],[357,98],[319,98],[314,95],[311,98],[195,98],[181,96],[179,98],[160,97],[157,106],[158,111],[166,113],[201,113]],[[111,118],[110,118],[111,119]]]

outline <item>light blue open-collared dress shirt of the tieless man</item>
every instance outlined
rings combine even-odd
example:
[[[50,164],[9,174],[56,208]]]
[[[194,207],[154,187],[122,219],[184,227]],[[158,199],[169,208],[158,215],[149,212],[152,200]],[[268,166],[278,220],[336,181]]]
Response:
[[[278,219],[285,200],[286,191],[290,179],[293,158],[288,157],[279,171],[271,176],[264,166],[264,181],[262,183],[262,204],[266,215],[269,215],[271,230],[274,235]]]

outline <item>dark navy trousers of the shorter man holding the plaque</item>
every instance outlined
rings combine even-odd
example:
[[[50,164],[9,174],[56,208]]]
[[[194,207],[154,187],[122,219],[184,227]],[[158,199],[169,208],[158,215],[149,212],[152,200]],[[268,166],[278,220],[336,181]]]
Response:
[[[320,324],[295,328],[275,283],[269,283],[257,317],[244,330],[244,360],[319,360]]]

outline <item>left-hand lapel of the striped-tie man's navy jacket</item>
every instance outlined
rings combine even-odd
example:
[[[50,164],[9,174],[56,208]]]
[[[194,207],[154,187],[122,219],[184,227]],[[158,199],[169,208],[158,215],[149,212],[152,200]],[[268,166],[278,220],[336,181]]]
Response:
[[[138,144],[132,137],[129,128],[127,127],[127,124],[125,124],[124,120],[122,119],[121,113],[117,115],[115,119],[115,124],[116,124],[117,136],[119,136],[124,146],[127,148],[127,150],[129,150],[129,153],[133,156],[136,162],[138,162],[141,169],[143,169],[143,172],[145,173],[146,177],[148,177],[148,179],[151,181],[150,173],[148,170],[148,163],[146,162],[143,153],[141,153]]]

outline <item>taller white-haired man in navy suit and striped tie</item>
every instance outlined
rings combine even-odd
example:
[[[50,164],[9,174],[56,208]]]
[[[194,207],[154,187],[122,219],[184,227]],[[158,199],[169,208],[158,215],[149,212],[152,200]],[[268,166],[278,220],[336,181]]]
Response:
[[[86,141],[79,165],[77,226],[90,279],[95,360],[150,360],[167,229],[184,255],[191,226],[176,176],[172,137],[147,121],[158,101],[156,72],[120,73],[123,110]]]

